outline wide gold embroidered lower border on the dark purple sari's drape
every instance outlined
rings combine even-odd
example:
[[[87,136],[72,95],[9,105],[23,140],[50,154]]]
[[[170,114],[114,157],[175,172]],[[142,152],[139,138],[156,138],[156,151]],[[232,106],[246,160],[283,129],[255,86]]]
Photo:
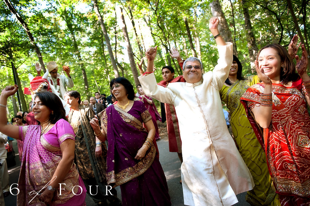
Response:
[[[156,155],[155,146],[151,145],[150,151],[133,167],[123,169],[115,174],[115,171],[107,173],[107,184],[115,183],[113,187],[119,186],[143,174],[152,165]]]

